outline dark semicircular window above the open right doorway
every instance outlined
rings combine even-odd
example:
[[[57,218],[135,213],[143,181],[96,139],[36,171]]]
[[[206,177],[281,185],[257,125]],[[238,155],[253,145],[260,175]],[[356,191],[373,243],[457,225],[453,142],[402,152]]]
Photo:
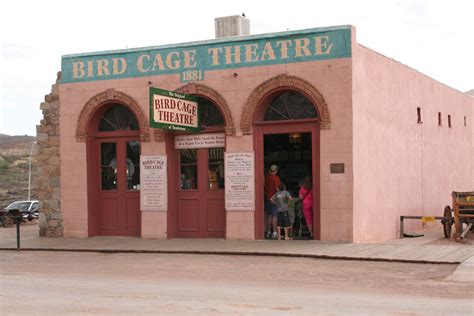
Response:
[[[303,94],[286,91],[276,96],[268,105],[264,121],[301,120],[318,117],[313,103]]]

